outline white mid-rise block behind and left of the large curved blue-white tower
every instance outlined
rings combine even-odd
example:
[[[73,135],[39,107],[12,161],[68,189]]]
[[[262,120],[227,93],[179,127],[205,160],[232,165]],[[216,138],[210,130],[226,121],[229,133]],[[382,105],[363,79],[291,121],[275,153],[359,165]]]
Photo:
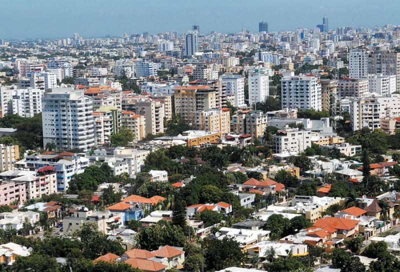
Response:
[[[43,90],[17,89],[12,91],[12,114],[31,118],[41,112]]]

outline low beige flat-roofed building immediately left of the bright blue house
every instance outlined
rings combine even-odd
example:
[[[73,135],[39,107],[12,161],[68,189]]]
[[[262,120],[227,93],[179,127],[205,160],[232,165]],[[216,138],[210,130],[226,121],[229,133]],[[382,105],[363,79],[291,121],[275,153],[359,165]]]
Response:
[[[93,223],[97,226],[97,230],[105,234],[112,234],[111,225],[124,225],[123,212],[110,211],[92,211],[80,209],[73,213],[72,216],[63,219],[63,233],[66,235],[72,234],[79,229],[83,224]]]

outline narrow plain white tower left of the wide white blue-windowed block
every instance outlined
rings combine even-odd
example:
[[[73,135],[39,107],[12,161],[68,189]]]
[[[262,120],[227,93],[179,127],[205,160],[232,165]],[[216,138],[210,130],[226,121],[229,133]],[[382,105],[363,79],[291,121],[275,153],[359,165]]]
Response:
[[[248,76],[248,100],[254,105],[262,102],[269,95],[269,78],[264,73],[256,73]]]

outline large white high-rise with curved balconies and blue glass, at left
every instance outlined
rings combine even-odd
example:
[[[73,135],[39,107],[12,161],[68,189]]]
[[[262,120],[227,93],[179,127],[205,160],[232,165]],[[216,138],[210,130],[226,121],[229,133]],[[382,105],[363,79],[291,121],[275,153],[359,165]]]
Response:
[[[83,91],[53,88],[42,98],[43,146],[54,143],[57,149],[94,145],[93,105]]]

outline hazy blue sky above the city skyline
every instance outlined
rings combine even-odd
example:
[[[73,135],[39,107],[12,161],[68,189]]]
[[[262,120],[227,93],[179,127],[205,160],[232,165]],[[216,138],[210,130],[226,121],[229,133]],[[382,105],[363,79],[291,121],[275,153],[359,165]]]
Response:
[[[0,0],[0,39],[83,38],[187,31],[201,33],[312,29],[325,15],[329,28],[400,25],[398,0]]]

